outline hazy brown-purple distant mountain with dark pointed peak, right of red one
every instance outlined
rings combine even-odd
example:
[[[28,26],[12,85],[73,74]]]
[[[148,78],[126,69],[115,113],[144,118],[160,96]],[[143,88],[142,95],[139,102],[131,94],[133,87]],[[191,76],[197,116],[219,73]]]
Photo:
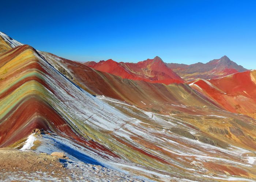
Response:
[[[188,81],[197,78],[216,79],[233,73],[248,71],[244,67],[231,61],[227,56],[223,56],[220,59],[211,60],[205,64],[195,63],[187,65],[166,63],[166,65],[180,75],[181,78]]]

